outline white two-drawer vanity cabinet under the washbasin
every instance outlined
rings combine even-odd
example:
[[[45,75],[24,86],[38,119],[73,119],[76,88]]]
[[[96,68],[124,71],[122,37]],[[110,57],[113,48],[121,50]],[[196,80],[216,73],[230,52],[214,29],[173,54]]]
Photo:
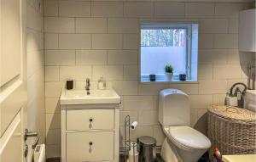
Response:
[[[68,104],[63,99],[61,162],[119,162],[120,99],[113,103],[94,101],[92,104],[74,101]]]

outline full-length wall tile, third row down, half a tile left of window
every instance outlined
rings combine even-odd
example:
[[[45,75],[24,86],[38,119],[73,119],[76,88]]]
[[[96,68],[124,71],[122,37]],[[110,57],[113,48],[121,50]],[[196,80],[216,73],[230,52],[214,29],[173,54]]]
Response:
[[[93,34],[93,49],[120,49],[122,47],[122,35],[119,34]]]

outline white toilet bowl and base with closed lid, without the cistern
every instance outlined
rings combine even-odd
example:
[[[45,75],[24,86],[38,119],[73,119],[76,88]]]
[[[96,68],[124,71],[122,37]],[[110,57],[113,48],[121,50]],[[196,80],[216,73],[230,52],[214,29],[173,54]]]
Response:
[[[208,148],[210,140],[189,126],[165,126],[161,157],[166,162],[196,162]]]

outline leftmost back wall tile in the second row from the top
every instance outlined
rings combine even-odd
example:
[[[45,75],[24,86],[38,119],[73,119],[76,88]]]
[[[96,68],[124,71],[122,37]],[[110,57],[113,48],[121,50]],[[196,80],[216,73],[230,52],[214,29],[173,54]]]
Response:
[[[44,18],[44,31],[47,33],[74,33],[74,19],[46,17]]]

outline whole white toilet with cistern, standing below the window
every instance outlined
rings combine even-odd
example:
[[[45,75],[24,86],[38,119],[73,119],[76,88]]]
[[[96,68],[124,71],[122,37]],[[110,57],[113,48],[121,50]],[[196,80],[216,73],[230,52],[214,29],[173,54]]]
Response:
[[[164,89],[159,96],[159,117],[166,139],[161,157],[166,162],[197,162],[211,147],[210,140],[190,127],[189,96],[177,89]]]

